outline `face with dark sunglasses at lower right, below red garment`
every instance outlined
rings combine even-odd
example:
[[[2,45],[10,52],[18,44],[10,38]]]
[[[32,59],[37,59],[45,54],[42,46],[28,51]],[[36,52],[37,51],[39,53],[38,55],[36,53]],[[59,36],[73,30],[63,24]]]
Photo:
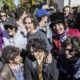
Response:
[[[75,55],[75,50],[72,48],[71,45],[68,45],[66,46],[66,49],[65,49],[65,57],[67,59],[71,59],[74,55]]]

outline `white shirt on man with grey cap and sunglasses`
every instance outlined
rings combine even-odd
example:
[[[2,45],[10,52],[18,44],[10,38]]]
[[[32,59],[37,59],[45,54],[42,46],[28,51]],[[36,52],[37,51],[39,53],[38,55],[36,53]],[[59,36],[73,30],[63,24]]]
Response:
[[[9,37],[9,35],[3,34],[4,46],[11,45],[18,47],[20,50],[26,48],[27,38],[24,38],[23,35],[18,30],[14,37]]]

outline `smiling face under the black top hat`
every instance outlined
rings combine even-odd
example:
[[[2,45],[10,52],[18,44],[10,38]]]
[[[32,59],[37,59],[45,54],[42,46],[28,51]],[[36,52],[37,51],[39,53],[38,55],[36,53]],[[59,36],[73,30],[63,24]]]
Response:
[[[64,29],[64,25],[62,23],[57,23],[55,25],[53,25],[53,30],[57,33],[57,34],[62,34],[64,33],[65,29]]]

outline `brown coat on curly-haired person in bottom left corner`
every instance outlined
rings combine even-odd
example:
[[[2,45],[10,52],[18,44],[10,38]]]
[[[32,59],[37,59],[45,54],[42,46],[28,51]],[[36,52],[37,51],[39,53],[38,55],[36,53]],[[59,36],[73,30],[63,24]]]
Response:
[[[8,64],[3,66],[0,72],[0,80],[16,80]]]

